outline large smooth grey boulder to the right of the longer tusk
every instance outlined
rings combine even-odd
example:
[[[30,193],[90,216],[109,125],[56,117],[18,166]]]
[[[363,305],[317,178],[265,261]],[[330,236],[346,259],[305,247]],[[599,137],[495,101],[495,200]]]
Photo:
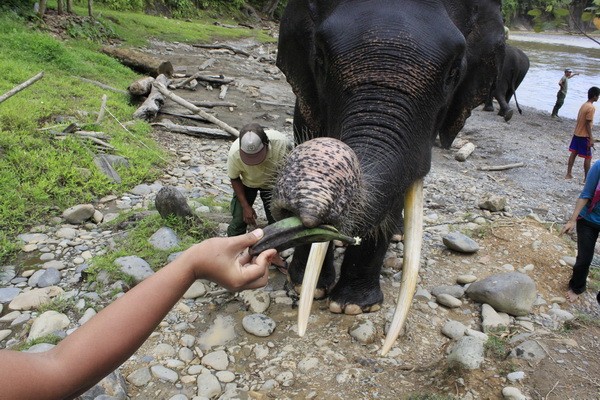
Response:
[[[529,314],[537,295],[533,279],[519,272],[492,275],[473,282],[466,293],[476,302],[515,316]]]

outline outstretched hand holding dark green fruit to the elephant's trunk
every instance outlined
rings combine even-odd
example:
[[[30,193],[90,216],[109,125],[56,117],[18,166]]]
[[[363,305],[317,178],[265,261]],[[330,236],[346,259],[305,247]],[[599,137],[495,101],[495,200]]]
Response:
[[[189,259],[196,279],[209,279],[231,291],[256,289],[267,284],[269,265],[277,255],[275,249],[256,257],[248,254],[248,247],[263,235],[262,229],[256,229],[245,235],[208,239],[182,256]]]

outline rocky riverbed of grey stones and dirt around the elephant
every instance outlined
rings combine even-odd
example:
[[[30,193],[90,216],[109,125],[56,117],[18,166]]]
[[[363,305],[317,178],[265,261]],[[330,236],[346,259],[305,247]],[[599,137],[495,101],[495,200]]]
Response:
[[[178,43],[155,43],[145,50],[188,73],[214,58],[215,74],[235,78],[226,99],[237,105],[215,109],[218,118],[238,129],[259,122],[291,134],[293,95],[269,62],[272,46],[231,45],[253,56]],[[216,100],[219,90],[177,93],[190,100]],[[170,103],[166,107],[178,109]],[[382,310],[334,315],[325,302],[316,301],[302,338],[297,335],[297,298],[276,269],[267,287],[241,294],[197,282],[113,379],[85,398],[398,399],[431,393],[460,399],[599,398],[596,292],[575,304],[563,297],[575,246],[558,230],[582,183],[580,160],[575,168],[579,178],[563,179],[573,126],[572,119],[552,120],[533,109],[525,108],[509,123],[478,109],[456,141],[457,146],[475,145],[466,161],[455,159],[457,149],[434,147],[425,180],[419,290],[405,333],[385,357],[379,350],[400,284],[401,241],[392,243],[384,262]],[[20,236],[23,254],[0,275],[1,346],[12,348],[48,333],[67,335],[126,290],[123,282],[87,283],[82,273],[123,233],[106,228],[106,221],[120,212],[152,209],[165,186],[177,187],[203,218],[218,216],[224,235],[227,214],[194,199],[229,200],[225,163],[231,142],[161,130],[154,135],[173,155],[158,181],[98,199],[85,221],[56,218]],[[523,165],[482,170],[517,163]],[[490,199],[496,208],[484,204]],[[157,246],[178,240],[163,233],[152,238]],[[475,241],[476,251],[450,250],[444,238],[451,233]],[[151,273],[135,254],[121,261],[139,279]],[[485,278],[514,274],[534,284],[518,286],[533,293],[523,315],[482,305],[465,294]],[[74,306],[61,313],[36,310],[37,303],[57,296]]]

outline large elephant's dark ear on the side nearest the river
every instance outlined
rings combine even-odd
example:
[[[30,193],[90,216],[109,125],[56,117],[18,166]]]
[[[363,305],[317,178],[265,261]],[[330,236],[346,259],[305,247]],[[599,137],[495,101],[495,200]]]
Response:
[[[442,147],[449,148],[471,111],[485,101],[504,60],[504,24],[498,0],[465,0],[449,8],[467,42],[467,71],[448,105],[440,130]]]

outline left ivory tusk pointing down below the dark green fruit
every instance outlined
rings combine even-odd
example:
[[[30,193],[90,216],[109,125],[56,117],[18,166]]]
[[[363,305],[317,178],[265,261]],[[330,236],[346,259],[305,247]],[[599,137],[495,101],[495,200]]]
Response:
[[[304,270],[304,279],[302,279],[300,301],[298,303],[298,335],[300,336],[304,336],[306,333],[315,289],[328,247],[329,242],[313,243],[310,247],[310,254],[308,255],[306,269]]]

